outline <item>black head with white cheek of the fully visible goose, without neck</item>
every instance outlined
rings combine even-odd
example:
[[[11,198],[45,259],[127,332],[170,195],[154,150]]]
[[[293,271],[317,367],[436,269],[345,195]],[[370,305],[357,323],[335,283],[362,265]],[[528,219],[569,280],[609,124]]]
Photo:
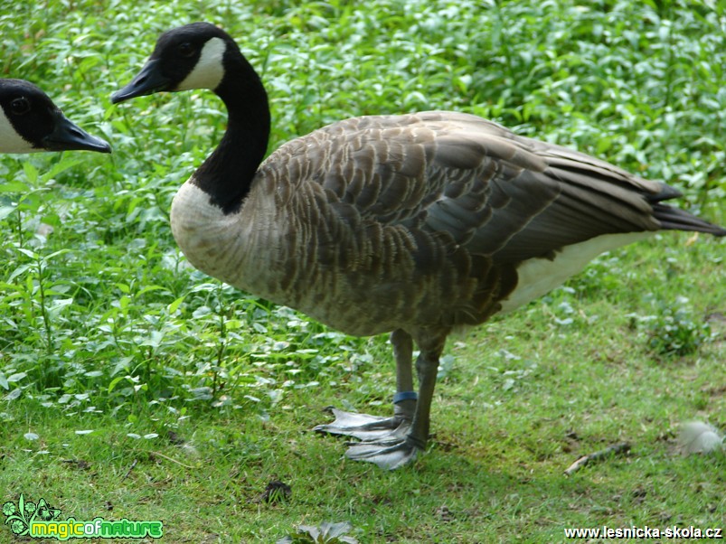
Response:
[[[240,55],[228,33],[210,23],[191,23],[163,33],[146,65],[111,96],[115,104],[158,91],[217,89],[228,53]]]

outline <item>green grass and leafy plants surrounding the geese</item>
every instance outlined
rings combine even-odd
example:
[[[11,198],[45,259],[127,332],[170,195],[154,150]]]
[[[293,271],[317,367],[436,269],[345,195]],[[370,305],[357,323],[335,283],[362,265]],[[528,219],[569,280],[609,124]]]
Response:
[[[208,20],[265,80],[270,148],[344,117],[457,109],[664,179],[726,223],[726,6],[531,4],[3,2],[3,76],[40,84],[114,154],[0,158],[0,502],[158,519],[164,541],[194,543],[325,521],[363,543],[723,526],[726,459],[674,440],[689,419],[726,428],[722,240],[618,250],[452,335],[429,452],[386,473],[309,432],[329,405],[387,413],[386,339],[240,294],[174,244],[171,198],[222,135],[222,104],[110,105],[158,33]],[[621,441],[629,455],[563,475]],[[261,500],[272,481],[287,502]]]

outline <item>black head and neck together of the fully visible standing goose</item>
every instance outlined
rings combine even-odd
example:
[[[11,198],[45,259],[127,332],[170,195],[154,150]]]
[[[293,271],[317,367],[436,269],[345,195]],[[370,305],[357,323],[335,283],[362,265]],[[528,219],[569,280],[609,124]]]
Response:
[[[163,33],[144,67],[111,101],[187,89],[212,90],[228,112],[222,141],[189,182],[225,212],[237,210],[267,151],[270,118],[259,75],[228,33],[210,23]]]

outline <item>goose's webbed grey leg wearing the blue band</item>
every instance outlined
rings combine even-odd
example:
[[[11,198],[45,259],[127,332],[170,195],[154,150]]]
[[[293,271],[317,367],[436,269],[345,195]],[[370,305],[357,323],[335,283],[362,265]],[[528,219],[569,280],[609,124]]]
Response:
[[[332,408],[335,421],[318,425],[314,430],[331,435],[353,436],[359,440],[375,440],[390,436],[401,424],[410,424],[416,409],[413,392],[411,358],[413,341],[409,333],[396,329],[391,333],[393,356],[396,360],[396,395],[393,397],[393,417],[368,416]]]

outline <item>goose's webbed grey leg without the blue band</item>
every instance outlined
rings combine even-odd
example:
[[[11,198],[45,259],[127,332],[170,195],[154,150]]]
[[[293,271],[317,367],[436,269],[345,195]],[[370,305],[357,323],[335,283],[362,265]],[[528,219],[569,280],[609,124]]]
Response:
[[[401,425],[387,436],[351,445],[345,455],[351,459],[369,461],[381,468],[392,470],[410,463],[420,451],[424,450],[429,441],[431,401],[436,387],[438,359],[445,340],[446,334],[439,334],[426,336],[424,340],[417,342],[421,348],[419,358],[416,360],[419,400],[413,420],[410,423],[402,421]]]

